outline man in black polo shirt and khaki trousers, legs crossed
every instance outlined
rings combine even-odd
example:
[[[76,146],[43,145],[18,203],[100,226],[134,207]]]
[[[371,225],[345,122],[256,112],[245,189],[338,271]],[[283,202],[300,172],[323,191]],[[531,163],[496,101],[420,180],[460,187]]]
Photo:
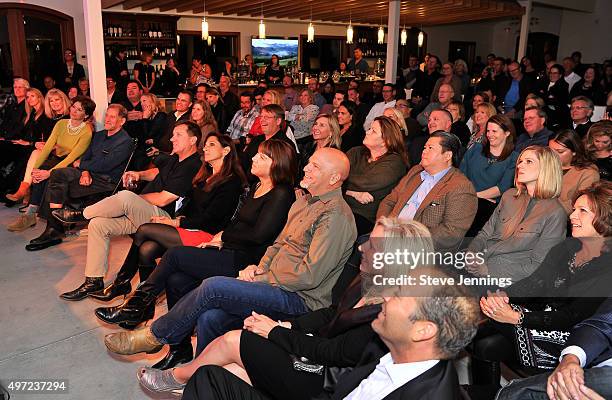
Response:
[[[108,270],[108,251],[113,236],[129,235],[151,217],[174,217],[175,203],[186,197],[193,177],[200,166],[197,153],[202,137],[195,122],[180,122],[172,132],[172,154],[155,158],[155,168],[123,175],[123,185],[137,181],[148,181],[140,195],[122,190],[96,204],[86,207],[82,213],[66,215],[64,222],[89,221],[87,236],[87,260],[85,282],[77,289],[63,293],[64,300],[82,300],[91,292],[104,288],[104,275]]]

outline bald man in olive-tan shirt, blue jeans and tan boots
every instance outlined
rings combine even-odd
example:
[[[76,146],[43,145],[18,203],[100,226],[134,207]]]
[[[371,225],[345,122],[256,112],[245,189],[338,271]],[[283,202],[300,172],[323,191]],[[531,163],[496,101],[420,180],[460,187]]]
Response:
[[[349,168],[340,150],[317,150],[300,182],[310,194],[293,203],[285,227],[259,265],[249,265],[238,278],[205,279],[150,327],[107,335],[106,347],[118,354],[157,352],[164,344],[181,342],[195,327],[198,349],[203,349],[241,328],[253,311],[284,320],[329,307],[332,287],[357,237],[341,190]]]

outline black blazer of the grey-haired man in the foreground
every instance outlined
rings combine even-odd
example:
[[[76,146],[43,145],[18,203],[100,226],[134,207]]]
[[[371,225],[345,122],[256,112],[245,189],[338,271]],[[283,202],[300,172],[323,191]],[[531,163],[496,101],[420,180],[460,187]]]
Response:
[[[322,393],[318,400],[340,400],[349,395],[364,379],[374,371],[380,358],[387,353],[385,346],[378,339],[370,343],[364,357],[376,355],[367,364],[357,366],[351,372],[340,376],[334,393]],[[385,400],[459,400],[459,380],[452,361],[440,360],[435,366],[400,386],[385,397]]]

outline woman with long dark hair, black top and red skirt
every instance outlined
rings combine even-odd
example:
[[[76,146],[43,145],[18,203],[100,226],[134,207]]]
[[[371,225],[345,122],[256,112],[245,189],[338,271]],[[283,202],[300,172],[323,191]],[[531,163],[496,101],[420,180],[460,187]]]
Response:
[[[155,259],[166,250],[208,242],[229,223],[246,184],[236,148],[228,136],[212,133],[204,143],[202,158],[204,163],[193,179],[193,194],[177,211],[178,217],[157,217],[141,225],[113,283],[91,297],[109,301],[127,295],[136,272],[141,282],[146,280]]]

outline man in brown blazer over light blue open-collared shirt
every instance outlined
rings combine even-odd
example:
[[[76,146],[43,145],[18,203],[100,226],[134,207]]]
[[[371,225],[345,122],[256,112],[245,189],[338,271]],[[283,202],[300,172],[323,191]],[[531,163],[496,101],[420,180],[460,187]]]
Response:
[[[460,149],[461,142],[453,134],[430,135],[420,164],[381,201],[376,218],[419,221],[431,232],[437,250],[455,250],[478,208],[474,186],[456,168]]]

